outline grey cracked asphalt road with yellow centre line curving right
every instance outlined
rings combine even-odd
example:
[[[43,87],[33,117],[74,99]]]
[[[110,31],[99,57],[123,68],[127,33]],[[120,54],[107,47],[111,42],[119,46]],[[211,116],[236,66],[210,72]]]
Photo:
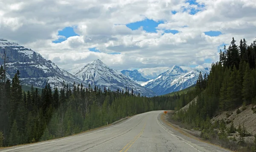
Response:
[[[102,129],[51,141],[0,149],[0,152],[229,152],[180,134],[146,112]]]

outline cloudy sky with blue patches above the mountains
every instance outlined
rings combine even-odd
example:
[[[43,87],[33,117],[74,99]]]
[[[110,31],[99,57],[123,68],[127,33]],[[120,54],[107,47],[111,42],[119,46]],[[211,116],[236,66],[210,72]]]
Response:
[[[255,12],[254,0],[1,0],[0,38],[65,70],[100,59],[153,78],[209,67],[232,37],[251,43]]]

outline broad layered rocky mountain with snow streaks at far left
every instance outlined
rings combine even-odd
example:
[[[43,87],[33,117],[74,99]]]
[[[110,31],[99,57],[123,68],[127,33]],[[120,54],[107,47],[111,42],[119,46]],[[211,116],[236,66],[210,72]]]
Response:
[[[59,68],[50,60],[46,60],[41,54],[20,46],[18,43],[0,39],[0,56],[6,52],[6,72],[13,77],[17,70],[20,71],[21,83],[28,86],[42,88],[49,83],[51,87],[63,86],[63,81],[69,86],[74,82],[81,83],[75,76]],[[0,65],[3,65],[0,58]]]

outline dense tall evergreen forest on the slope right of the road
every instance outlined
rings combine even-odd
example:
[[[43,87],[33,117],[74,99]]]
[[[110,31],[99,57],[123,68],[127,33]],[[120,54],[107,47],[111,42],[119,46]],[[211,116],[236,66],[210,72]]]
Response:
[[[213,130],[218,128],[221,130],[218,137],[227,140],[227,134],[234,133],[234,128],[226,128],[224,122],[212,125],[210,118],[222,111],[256,104],[256,41],[247,45],[243,39],[237,46],[233,38],[228,48],[224,46],[220,50],[220,60],[212,63],[209,75],[199,75],[195,92],[197,102],[190,104],[186,112],[178,111],[173,118],[201,130],[201,137],[205,139],[213,138]],[[239,144],[242,144],[245,133],[239,132],[239,135]],[[256,150],[256,143],[254,148]]]

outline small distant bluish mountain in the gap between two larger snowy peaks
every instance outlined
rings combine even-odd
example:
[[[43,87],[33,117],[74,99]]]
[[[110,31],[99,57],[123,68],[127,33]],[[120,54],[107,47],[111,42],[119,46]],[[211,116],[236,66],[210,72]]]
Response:
[[[126,77],[130,78],[131,80],[134,80],[138,84],[144,84],[150,79],[147,79],[141,75],[141,73],[138,70],[122,70],[121,73],[125,75]],[[143,85],[141,85],[143,86]],[[145,86],[145,85],[144,85]]]

